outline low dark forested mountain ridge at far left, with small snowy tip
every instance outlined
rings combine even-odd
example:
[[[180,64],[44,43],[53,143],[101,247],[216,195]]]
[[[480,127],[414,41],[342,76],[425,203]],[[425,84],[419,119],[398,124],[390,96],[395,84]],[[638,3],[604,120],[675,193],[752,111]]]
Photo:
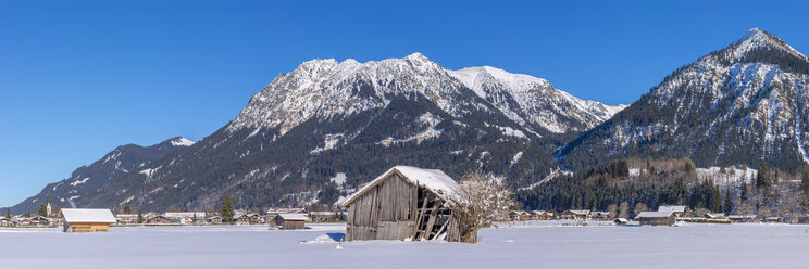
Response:
[[[150,146],[136,144],[117,146],[92,164],[77,168],[71,177],[46,185],[38,194],[12,206],[11,212],[13,214],[36,212],[48,198],[55,208],[74,207],[74,201],[98,192],[99,188],[120,176],[192,144],[194,142],[186,138],[176,137]]]

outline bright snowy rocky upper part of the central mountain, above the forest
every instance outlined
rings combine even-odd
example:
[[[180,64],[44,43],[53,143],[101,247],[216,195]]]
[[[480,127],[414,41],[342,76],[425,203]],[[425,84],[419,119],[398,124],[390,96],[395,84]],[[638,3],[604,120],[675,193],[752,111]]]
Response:
[[[426,98],[453,117],[463,117],[463,106],[493,105],[532,133],[584,131],[623,107],[583,101],[545,79],[494,67],[447,71],[414,53],[368,63],[306,62],[257,93],[228,129],[279,126],[283,136],[310,118],[345,118],[385,107],[397,95]]]

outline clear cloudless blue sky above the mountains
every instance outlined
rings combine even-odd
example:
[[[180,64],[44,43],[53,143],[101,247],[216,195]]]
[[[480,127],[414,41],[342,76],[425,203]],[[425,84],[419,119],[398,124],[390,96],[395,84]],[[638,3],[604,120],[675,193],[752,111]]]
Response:
[[[422,52],[631,103],[752,27],[809,51],[799,1],[2,1],[0,206],[117,145],[200,140],[311,59]]]

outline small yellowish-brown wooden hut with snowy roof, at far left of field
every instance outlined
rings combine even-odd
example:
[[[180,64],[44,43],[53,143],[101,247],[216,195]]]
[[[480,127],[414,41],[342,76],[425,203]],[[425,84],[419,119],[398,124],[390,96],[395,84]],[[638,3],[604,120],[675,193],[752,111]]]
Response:
[[[64,232],[107,232],[110,225],[117,222],[110,209],[62,209]]]

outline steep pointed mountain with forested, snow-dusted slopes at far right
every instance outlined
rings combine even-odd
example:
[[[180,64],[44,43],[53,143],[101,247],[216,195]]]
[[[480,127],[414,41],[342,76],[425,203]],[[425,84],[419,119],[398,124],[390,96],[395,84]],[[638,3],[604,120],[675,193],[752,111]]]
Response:
[[[675,71],[559,156],[574,167],[639,155],[795,170],[809,162],[807,85],[809,60],[754,28]]]

